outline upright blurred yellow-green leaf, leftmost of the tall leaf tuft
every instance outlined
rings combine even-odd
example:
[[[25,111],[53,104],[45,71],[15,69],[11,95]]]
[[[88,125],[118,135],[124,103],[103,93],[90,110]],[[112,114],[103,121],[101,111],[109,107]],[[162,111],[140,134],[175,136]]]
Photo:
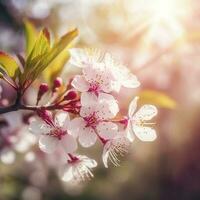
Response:
[[[31,22],[25,21],[24,32],[26,38],[26,56],[28,56],[34,47],[37,38],[37,31]]]

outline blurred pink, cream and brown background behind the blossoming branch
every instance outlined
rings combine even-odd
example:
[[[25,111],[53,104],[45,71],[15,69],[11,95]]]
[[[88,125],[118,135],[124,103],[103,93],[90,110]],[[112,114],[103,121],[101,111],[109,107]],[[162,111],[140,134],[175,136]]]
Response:
[[[0,0],[1,50],[23,52],[24,19],[55,37],[78,27],[77,47],[101,48],[123,61],[142,86],[121,91],[121,108],[126,112],[135,95],[155,104],[158,138],[135,140],[120,167],[99,164],[93,180],[72,185],[58,179],[57,158],[40,152],[27,126],[20,127],[26,113],[1,116],[0,200],[199,200],[200,1]],[[13,94],[3,90],[6,104]],[[20,137],[8,145],[13,132]],[[98,145],[91,155],[101,163]]]

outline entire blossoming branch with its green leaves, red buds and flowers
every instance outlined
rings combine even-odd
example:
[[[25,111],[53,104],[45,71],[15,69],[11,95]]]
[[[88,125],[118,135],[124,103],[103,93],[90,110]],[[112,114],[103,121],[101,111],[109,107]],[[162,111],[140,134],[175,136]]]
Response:
[[[0,77],[15,90],[16,98],[8,104],[0,101],[0,114],[6,118],[14,111],[28,111],[29,131],[38,138],[39,148],[47,153],[59,152],[59,175],[64,181],[80,181],[93,177],[92,169],[97,162],[86,155],[78,154],[78,143],[83,148],[102,144],[102,161],[107,168],[109,161],[119,165],[119,156],[128,152],[134,135],[142,141],[153,141],[156,132],[151,120],[157,109],[143,105],[136,112],[138,97],[135,97],[125,116],[120,115],[116,93],[123,87],[137,88],[140,82],[126,66],[117,62],[109,53],[96,49],[71,48],[77,36],[76,29],[66,33],[52,44],[49,31],[39,34],[26,22],[26,54],[17,55],[17,60],[0,52]],[[69,61],[78,67],[81,75],[65,82],[59,76],[60,66],[55,60]],[[41,82],[46,71],[53,83]],[[27,89],[38,82],[35,105],[24,101]],[[2,92],[2,91],[0,91]],[[42,103],[46,98],[47,103]],[[13,122],[10,122],[12,124]],[[22,138],[23,139],[23,138]]]

